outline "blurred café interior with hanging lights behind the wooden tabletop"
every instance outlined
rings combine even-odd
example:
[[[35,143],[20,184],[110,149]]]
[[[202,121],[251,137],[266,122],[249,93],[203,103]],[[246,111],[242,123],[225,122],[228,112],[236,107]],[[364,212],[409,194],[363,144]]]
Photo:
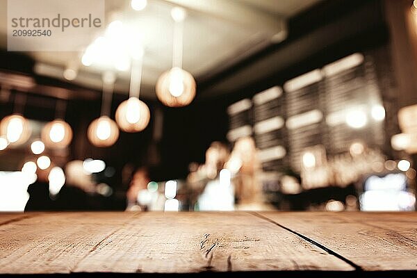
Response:
[[[106,0],[7,51],[0,211],[415,211],[417,1]]]

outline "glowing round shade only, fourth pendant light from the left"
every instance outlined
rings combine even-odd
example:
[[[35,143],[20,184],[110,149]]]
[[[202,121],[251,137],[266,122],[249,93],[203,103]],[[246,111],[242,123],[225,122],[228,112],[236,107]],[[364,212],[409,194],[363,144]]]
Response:
[[[150,117],[149,108],[137,97],[123,101],[116,110],[116,122],[126,132],[142,131],[149,124]]]

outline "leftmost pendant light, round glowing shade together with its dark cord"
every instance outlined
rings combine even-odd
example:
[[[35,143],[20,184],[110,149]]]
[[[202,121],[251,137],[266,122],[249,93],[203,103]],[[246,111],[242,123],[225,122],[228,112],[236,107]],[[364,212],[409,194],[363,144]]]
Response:
[[[0,134],[6,138],[8,145],[18,146],[24,144],[31,137],[32,129],[28,120],[22,116],[26,96],[15,96],[15,111],[0,122]]]

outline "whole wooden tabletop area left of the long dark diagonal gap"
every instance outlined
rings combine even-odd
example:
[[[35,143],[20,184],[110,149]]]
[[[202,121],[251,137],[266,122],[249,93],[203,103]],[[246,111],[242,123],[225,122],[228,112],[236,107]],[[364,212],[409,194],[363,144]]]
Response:
[[[354,268],[245,212],[42,213],[0,226],[0,273],[206,270]]]

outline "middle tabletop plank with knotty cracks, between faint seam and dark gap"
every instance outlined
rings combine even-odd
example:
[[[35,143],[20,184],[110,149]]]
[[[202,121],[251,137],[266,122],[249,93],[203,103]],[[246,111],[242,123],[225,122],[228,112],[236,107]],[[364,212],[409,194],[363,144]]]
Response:
[[[80,272],[352,270],[249,213],[145,213],[106,239]]]

